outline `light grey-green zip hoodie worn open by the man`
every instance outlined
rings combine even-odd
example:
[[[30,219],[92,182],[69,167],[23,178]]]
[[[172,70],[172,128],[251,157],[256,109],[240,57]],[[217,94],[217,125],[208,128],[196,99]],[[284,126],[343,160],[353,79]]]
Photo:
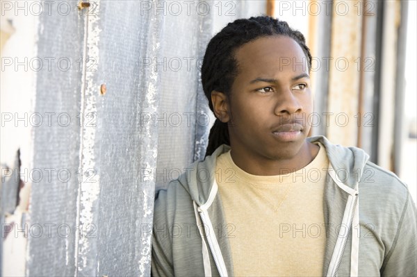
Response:
[[[361,149],[334,145],[322,136],[307,140],[321,142],[330,162],[322,275],[417,276],[416,205],[407,185],[369,162]],[[217,157],[229,149],[220,146],[158,192],[153,276],[234,276],[232,228],[224,221],[214,174]]]

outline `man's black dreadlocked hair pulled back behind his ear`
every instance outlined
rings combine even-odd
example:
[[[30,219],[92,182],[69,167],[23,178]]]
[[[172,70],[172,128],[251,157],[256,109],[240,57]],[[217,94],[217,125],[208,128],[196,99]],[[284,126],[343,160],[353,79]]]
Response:
[[[309,47],[306,46],[304,35],[300,31],[290,28],[287,22],[268,16],[237,19],[227,24],[208,42],[204,54],[202,85],[212,112],[214,110],[213,103],[211,103],[211,92],[215,90],[229,96],[231,85],[238,75],[236,50],[247,42],[272,35],[285,35],[295,40],[304,51],[309,70],[311,69],[311,53]],[[216,119],[208,135],[206,156],[211,155],[222,144],[230,145],[229,129],[227,123]]]

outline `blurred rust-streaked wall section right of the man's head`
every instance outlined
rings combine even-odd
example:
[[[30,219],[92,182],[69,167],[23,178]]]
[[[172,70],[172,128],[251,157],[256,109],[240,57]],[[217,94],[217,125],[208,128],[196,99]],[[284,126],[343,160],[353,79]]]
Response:
[[[311,49],[312,134],[361,147],[416,200],[416,1],[274,2]]]

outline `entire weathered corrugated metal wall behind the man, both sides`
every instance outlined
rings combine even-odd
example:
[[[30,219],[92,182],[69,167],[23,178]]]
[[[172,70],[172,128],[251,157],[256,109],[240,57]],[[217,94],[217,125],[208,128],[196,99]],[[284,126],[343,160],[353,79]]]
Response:
[[[414,3],[0,3],[3,276],[149,276],[154,193],[204,158],[213,124],[206,44],[267,4],[315,57],[312,135],[363,147],[416,194]]]

